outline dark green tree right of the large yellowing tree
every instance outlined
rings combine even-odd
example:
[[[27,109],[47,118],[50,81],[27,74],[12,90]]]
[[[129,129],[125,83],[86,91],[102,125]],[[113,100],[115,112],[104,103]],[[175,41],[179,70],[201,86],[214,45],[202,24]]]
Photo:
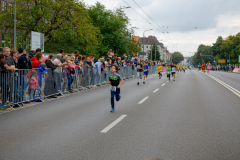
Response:
[[[92,23],[97,27],[103,39],[99,42],[98,51],[101,56],[106,56],[112,49],[119,56],[124,53],[131,54],[140,51],[140,45],[134,39],[131,40],[133,29],[127,29],[129,19],[120,9],[107,10],[99,2],[89,7],[89,16]]]

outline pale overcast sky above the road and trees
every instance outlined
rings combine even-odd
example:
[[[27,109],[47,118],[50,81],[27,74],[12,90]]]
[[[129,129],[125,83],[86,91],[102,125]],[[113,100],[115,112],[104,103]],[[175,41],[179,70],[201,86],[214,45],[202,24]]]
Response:
[[[83,1],[87,5],[94,5],[97,2],[97,0]],[[218,36],[226,38],[240,32],[240,0],[98,0],[98,2],[110,10],[127,7],[129,4],[131,8],[124,11],[131,21],[131,27],[138,28],[135,35],[142,37],[145,30],[153,29],[144,35],[156,36],[170,52],[180,51],[184,56],[193,55],[200,44],[212,45]]]

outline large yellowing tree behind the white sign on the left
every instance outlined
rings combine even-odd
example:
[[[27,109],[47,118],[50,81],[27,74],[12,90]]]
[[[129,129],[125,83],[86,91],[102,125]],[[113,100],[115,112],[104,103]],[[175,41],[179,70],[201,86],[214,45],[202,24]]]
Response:
[[[30,49],[31,31],[45,34],[45,51],[96,54],[101,35],[91,23],[84,4],[75,0],[17,0],[17,47]],[[0,15],[5,46],[13,47],[13,5]]]

